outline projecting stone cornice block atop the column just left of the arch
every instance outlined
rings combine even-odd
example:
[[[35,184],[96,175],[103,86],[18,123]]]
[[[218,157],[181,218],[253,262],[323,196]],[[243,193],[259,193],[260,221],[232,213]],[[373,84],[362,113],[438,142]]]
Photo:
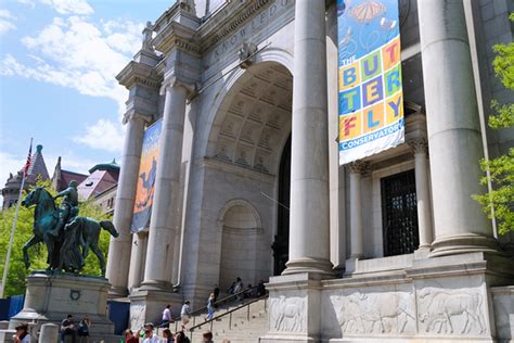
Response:
[[[171,50],[178,49],[200,56],[202,50],[196,43],[194,35],[193,29],[177,22],[171,22],[157,34],[152,40],[152,45],[166,55]]]

